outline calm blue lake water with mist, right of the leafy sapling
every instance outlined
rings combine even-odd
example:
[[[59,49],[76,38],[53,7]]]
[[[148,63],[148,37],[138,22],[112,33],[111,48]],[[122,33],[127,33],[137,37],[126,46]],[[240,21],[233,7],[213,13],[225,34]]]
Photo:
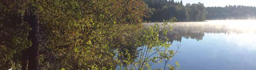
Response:
[[[145,25],[151,25],[149,23]],[[178,70],[256,70],[256,20],[175,23],[168,32],[177,55],[168,64]],[[151,64],[163,68],[164,63]]]

